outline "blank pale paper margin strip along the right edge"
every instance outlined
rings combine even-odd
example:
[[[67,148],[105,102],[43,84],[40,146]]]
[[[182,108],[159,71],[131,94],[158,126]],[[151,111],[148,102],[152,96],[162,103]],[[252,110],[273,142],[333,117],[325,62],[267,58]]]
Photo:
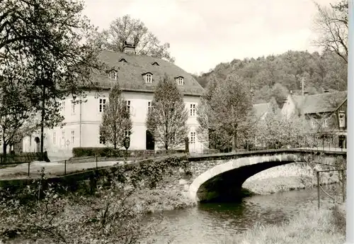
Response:
[[[348,133],[347,133],[347,201],[346,201],[346,244],[354,244],[354,4],[348,1]],[[350,109],[351,108],[351,109]]]

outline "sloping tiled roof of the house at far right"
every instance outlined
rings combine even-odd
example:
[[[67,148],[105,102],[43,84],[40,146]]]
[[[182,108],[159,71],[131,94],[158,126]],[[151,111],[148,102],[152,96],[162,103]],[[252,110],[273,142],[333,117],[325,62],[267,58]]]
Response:
[[[308,96],[292,96],[301,113],[325,113],[335,111],[347,98],[347,91],[322,93]]]

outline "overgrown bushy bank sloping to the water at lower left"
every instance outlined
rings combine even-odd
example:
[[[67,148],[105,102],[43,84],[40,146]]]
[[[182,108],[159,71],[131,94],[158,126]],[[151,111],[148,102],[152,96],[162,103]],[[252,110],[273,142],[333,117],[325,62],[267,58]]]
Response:
[[[21,192],[0,193],[0,240],[14,243],[139,243],[154,235],[161,221],[156,215],[144,221],[153,201],[142,193],[156,192],[164,175],[187,170],[181,157],[144,160],[122,165],[97,179],[95,191],[69,192],[47,184],[44,168],[40,179]],[[157,191],[158,192],[158,191]],[[139,196],[137,196],[139,194]],[[139,201],[137,201],[139,199]]]

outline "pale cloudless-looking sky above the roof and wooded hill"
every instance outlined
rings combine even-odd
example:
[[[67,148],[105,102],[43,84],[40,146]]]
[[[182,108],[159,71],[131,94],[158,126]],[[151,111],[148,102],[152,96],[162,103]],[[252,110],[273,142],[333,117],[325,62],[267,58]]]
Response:
[[[319,51],[312,0],[84,1],[84,14],[100,30],[126,14],[139,18],[161,43],[170,43],[175,64],[193,74],[234,59]]]

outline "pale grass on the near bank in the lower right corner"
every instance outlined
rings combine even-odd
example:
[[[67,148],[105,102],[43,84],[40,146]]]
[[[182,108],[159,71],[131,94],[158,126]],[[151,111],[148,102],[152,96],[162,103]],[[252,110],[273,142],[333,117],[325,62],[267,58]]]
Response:
[[[345,206],[309,209],[281,225],[254,226],[239,237],[227,237],[222,244],[343,244]]]

